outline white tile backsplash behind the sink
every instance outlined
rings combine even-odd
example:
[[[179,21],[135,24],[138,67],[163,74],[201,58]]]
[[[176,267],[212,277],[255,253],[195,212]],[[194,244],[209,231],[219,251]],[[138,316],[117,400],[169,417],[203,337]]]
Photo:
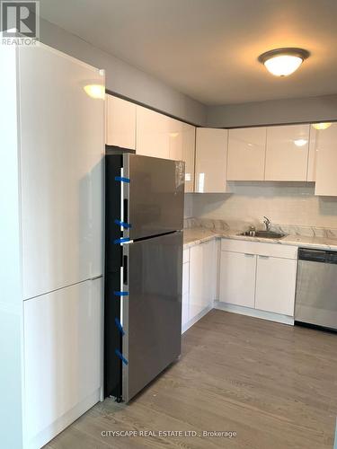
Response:
[[[309,182],[231,182],[233,193],[186,194],[185,217],[261,225],[263,216],[283,225],[337,228],[337,197],[316,197]]]

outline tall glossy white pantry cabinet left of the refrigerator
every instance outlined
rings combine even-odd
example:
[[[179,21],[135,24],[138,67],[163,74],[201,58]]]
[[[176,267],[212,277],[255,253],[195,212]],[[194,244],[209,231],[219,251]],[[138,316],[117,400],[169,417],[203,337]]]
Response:
[[[102,397],[102,71],[0,47],[0,442],[40,448]]]

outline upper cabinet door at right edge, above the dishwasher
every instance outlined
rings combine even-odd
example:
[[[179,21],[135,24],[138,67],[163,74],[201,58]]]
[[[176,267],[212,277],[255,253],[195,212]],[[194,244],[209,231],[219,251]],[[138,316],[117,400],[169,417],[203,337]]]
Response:
[[[315,130],[315,195],[337,196],[337,123]]]

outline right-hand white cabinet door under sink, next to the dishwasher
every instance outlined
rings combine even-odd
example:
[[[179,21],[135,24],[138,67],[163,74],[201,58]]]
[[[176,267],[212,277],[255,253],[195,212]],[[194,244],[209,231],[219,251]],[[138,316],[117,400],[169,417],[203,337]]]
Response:
[[[294,316],[297,260],[258,256],[255,308]]]

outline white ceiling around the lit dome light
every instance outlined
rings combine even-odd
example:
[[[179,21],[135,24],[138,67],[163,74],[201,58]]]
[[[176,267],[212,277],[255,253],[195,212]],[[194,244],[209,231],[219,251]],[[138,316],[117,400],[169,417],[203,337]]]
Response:
[[[41,16],[205,104],[337,92],[337,0],[41,0]],[[264,51],[312,56],[277,78]]]

